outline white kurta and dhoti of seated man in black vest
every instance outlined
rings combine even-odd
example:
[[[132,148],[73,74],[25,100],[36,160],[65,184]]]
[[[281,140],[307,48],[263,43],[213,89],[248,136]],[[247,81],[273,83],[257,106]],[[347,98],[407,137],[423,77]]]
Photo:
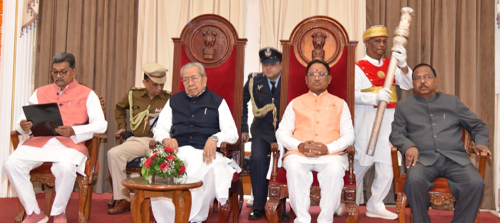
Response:
[[[238,140],[238,131],[225,100],[222,100],[218,112],[220,132],[214,134],[218,137],[217,147],[220,147],[222,142],[235,143]],[[170,138],[171,127],[172,110],[170,100],[168,100],[159,114],[156,127],[153,129],[154,140],[161,142],[165,138]],[[192,146],[179,147],[177,153],[177,156],[184,161],[187,176],[203,181],[202,187],[189,190],[191,191],[191,213],[189,215],[191,222],[206,220],[213,199],[216,198],[220,204],[225,204],[232,176],[234,172],[241,171],[237,165],[234,165],[234,161],[223,157],[219,152],[208,165],[203,162],[202,154],[203,150],[195,149]],[[173,223],[175,210],[171,199],[151,198],[151,208],[156,222]]]

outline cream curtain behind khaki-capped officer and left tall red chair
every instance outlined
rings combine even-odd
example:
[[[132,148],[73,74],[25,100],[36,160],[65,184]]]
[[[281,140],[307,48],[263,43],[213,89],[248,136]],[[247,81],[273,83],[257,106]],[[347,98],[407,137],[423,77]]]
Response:
[[[179,37],[182,28],[192,18],[201,14],[218,14],[229,20],[242,38],[245,34],[245,0],[139,0],[137,60],[135,87],[142,86],[141,66],[156,62],[168,68],[171,77],[173,63],[172,37]],[[170,91],[171,78],[165,90]],[[128,86],[133,87],[133,86]],[[123,94],[126,89],[120,89]]]

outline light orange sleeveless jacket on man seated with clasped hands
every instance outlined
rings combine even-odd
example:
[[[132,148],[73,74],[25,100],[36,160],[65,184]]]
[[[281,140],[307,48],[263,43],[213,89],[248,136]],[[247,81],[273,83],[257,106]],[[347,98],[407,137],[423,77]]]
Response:
[[[314,140],[329,144],[340,138],[340,114],[344,101],[327,91],[319,96],[308,92],[292,100],[295,113],[295,129],[292,137],[304,142]],[[285,154],[304,156],[297,150],[288,150]],[[328,154],[333,155],[333,154]],[[283,156],[284,157],[284,156]]]

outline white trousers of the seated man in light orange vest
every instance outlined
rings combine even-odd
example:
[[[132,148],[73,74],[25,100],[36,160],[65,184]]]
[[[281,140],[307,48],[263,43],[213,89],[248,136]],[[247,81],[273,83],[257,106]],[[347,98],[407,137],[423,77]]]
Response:
[[[290,157],[288,157],[290,156]],[[300,162],[301,159],[309,159],[298,155],[288,155],[283,160],[283,167],[286,169],[286,180],[288,184],[288,198],[290,207],[295,212],[297,218],[294,223],[310,223],[310,186],[312,184],[312,172],[317,172],[317,180],[321,188],[321,200],[319,208],[321,212],[317,217],[317,223],[332,223],[333,212],[340,204],[340,194],[343,187],[343,176],[346,169],[346,162],[327,162],[318,164],[308,164]],[[293,156],[293,158],[291,157]],[[292,159],[290,159],[292,158]],[[321,156],[316,159],[331,158]],[[345,158],[345,161],[347,159]],[[307,162],[308,160],[305,160]]]

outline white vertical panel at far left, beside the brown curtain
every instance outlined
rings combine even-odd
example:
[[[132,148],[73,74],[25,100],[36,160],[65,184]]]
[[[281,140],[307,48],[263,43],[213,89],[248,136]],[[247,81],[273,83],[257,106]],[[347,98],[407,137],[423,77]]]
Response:
[[[3,23],[1,26],[1,61],[0,61],[0,167],[10,155],[10,131],[19,117],[21,107],[27,103],[33,92],[33,46],[35,39],[34,20],[23,24],[23,18],[30,21],[37,11],[32,0],[19,0],[17,5],[17,24],[15,23],[15,0],[3,1]],[[37,3],[36,3],[37,4]],[[21,27],[25,25],[21,37]],[[16,40],[14,48],[14,40]],[[15,54],[15,57],[14,57]],[[48,75],[48,71],[47,74]],[[12,97],[13,94],[13,97]],[[7,177],[0,176],[0,197],[13,197],[14,191],[9,187]]]

